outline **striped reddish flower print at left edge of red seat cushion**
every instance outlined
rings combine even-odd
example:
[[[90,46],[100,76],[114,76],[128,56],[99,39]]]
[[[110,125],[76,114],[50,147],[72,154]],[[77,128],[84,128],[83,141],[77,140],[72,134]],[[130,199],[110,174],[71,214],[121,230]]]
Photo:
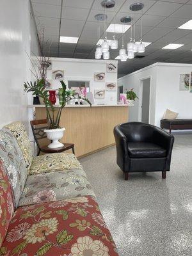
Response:
[[[8,242],[15,242],[19,239],[21,239],[25,232],[29,229],[30,224],[29,223],[21,223],[18,226],[16,226],[15,228],[13,228],[10,232],[8,232],[8,235],[6,236],[6,240]]]

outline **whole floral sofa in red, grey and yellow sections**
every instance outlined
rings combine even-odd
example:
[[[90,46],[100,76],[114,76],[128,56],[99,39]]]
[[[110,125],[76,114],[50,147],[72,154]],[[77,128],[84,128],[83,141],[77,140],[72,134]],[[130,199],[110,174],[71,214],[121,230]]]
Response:
[[[0,130],[0,255],[118,255],[76,156],[33,157],[20,122]]]

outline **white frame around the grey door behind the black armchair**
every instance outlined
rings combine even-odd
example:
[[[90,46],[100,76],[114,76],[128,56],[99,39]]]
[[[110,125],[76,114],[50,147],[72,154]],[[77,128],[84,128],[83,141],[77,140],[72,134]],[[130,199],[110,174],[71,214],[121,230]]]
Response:
[[[149,104],[148,104],[148,124],[150,124],[150,99],[151,99],[151,82],[152,82],[152,76],[146,76],[142,77],[140,79],[140,90],[139,90],[139,108],[138,108],[138,120],[141,122],[142,118],[142,99],[143,99],[143,80],[150,78],[150,84],[149,84]]]

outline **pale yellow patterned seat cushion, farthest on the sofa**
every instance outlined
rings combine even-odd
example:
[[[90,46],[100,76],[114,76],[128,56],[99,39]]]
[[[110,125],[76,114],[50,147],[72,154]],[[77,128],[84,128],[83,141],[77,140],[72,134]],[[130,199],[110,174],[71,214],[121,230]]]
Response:
[[[34,157],[29,174],[33,175],[37,173],[55,172],[72,168],[82,168],[74,154],[45,154]]]

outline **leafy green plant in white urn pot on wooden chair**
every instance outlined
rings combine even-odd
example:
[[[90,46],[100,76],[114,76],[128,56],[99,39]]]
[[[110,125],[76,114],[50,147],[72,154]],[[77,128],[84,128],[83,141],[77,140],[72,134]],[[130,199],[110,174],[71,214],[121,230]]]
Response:
[[[53,105],[49,100],[49,92],[45,90],[44,79],[40,79],[38,81],[35,81],[34,83],[24,83],[24,92],[32,92],[33,95],[39,95],[39,97],[42,98],[45,104],[48,120],[48,129],[45,129],[44,131],[47,134],[47,138],[49,140],[52,140],[52,143],[48,145],[49,148],[63,147],[63,144],[59,140],[63,137],[65,128],[60,127],[60,118],[61,112],[68,101],[73,99],[81,99],[85,100],[86,102],[88,102],[88,104],[90,104],[90,106],[92,106],[91,102],[88,99],[83,97],[75,97],[76,92],[73,90],[67,90],[66,84],[63,81],[60,81],[60,83],[62,86],[62,93],[60,95],[61,105],[59,107]]]

